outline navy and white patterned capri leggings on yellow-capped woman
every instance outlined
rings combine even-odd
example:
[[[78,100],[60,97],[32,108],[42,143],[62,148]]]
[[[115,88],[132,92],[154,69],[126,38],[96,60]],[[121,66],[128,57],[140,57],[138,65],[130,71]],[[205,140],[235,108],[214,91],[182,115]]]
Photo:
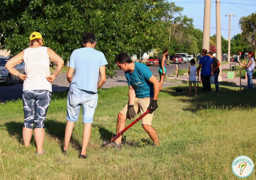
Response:
[[[25,90],[22,94],[25,128],[44,128],[44,121],[52,99],[52,92],[47,90]]]

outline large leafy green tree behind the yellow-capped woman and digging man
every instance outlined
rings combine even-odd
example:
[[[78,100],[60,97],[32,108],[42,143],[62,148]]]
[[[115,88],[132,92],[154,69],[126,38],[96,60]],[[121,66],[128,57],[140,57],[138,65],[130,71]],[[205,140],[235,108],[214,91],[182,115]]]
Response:
[[[81,36],[93,32],[96,49],[107,60],[113,77],[119,52],[141,56],[161,39],[164,0],[5,0],[0,3],[0,48],[15,55],[28,47],[33,31],[67,63],[72,51],[82,47]]]

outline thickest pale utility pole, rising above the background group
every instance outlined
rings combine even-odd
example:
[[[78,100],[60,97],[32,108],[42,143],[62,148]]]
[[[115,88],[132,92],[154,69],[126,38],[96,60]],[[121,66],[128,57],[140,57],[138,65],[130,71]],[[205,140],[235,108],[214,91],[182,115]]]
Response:
[[[204,0],[203,49],[210,49],[211,0]]]

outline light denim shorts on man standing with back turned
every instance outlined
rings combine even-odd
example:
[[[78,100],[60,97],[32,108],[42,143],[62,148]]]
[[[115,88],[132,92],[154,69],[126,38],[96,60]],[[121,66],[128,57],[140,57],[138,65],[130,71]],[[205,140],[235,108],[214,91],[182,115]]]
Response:
[[[83,123],[93,123],[97,101],[97,93],[70,86],[67,100],[67,120],[76,122],[78,120],[81,105],[83,105]]]

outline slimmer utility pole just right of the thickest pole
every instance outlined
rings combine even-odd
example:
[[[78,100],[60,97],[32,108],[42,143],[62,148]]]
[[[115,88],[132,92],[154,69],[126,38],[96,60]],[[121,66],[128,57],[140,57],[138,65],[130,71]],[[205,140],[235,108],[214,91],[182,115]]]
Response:
[[[216,0],[216,58],[221,62],[221,7],[220,0]],[[222,81],[222,65],[220,65],[220,74],[218,81]]]

